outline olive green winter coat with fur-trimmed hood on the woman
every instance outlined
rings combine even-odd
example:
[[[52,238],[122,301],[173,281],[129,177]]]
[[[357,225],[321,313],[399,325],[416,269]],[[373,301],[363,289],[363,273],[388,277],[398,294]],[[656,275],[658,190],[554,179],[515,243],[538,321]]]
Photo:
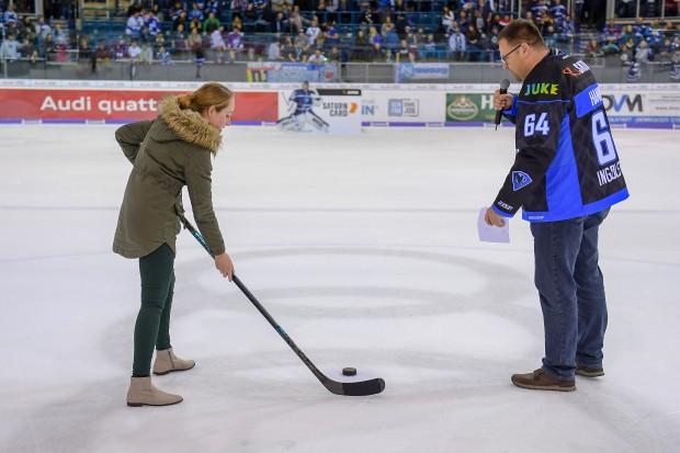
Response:
[[[118,128],[115,138],[133,163],[118,215],[113,251],[144,257],[167,242],[175,250],[178,212],[186,185],[196,226],[214,254],[225,245],[213,211],[211,158],[222,144],[220,131],[195,112],[182,111],[177,98],[159,104],[155,121]]]

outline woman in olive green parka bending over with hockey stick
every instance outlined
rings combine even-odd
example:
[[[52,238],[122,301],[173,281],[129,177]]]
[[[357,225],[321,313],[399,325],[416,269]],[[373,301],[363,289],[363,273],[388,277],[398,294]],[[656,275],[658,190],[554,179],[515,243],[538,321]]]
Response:
[[[196,226],[215,254],[215,267],[231,280],[234,264],[213,209],[211,160],[222,145],[222,129],[230,124],[234,109],[234,93],[228,88],[206,83],[193,93],[165,98],[156,120],[127,124],[115,133],[133,170],[113,251],[125,258],[138,258],[141,278],[128,406],[167,406],[182,400],[181,396],[151,384],[154,349],[154,374],[184,371],[195,364],[174,355],[169,333],[183,186]]]

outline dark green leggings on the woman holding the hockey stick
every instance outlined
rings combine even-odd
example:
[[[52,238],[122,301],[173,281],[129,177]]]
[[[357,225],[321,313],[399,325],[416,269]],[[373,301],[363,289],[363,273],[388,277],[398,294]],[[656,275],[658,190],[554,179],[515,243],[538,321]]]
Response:
[[[154,347],[170,346],[170,309],[174,292],[174,252],[163,244],[139,258],[141,307],[135,322],[135,358],[133,377],[151,375]]]

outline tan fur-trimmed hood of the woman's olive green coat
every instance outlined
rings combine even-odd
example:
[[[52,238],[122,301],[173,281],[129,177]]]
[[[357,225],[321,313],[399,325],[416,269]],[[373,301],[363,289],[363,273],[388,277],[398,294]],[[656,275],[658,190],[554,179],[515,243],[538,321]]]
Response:
[[[222,132],[208,124],[201,114],[191,110],[182,110],[177,102],[177,97],[168,95],[159,103],[158,117],[168,125],[172,135],[190,144],[208,149],[216,154],[222,145]],[[166,141],[172,137],[159,134],[155,139]]]

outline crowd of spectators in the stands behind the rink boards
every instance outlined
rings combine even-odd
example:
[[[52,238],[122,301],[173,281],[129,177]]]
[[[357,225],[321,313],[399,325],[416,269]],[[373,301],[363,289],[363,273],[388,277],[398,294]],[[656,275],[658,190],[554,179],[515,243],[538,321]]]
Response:
[[[322,65],[326,61],[490,61],[499,60],[498,34],[514,14],[510,0],[159,0],[134,1],[120,11],[115,39],[83,26],[76,38],[50,26],[68,21],[72,1],[46,0],[45,16],[25,14],[0,0],[3,58],[65,61],[66,52],[103,61],[206,60],[228,64],[263,58]],[[620,2],[627,5],[628,2]],[[118,4],[116,2],[116,4]],[[621,26],[610,20],[599,37],[576,48],[587,2],[529,0],[522,16],[533,20],[551,46],[588,56],[619,55],[624,64],[671,60],[680,46],[680,25],[658,19]],[[576,20],[574,20],[571,12]],[[81,12],[81,16],[83,16]],[[585,48],[583,48],[585,47]],[[93,66],[94,68],[95,66]]]

